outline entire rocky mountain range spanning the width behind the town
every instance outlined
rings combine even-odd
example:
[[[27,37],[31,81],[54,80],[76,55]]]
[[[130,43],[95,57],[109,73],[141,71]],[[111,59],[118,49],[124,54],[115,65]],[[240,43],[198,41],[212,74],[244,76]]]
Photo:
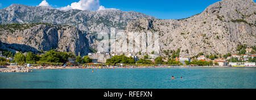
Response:
[[[100,44],[94,33],[110,33],[110,29],[115,28],[115,31],[125,32],[115,40],[115,50],[122,50],[120,47],[125,46],[123,40],[134,42],[124,36],[138,37],[142,32],[152,32],[154,36],[159,34],[160,56],[168,56],[171,53],[166,51],[177,49],[184,57],[201,52],[205,55],[223,55],[237,53],[238,45],[255,46],[255,19],[256,3],[253,0],[222,0],[210,5],[201,14],[179,20],[160,20],[133,11],[62,11],[43,6],[11,5],[0,10],[0,45],[13,51],[57,49],[76,54],[80,51],[81,55],[87,55],[89,46],[95,49]],[[143,38],[148,40],[147,35]],[[134,48],[145,50],[142,46],[150,42],[139,41]],[[151,54],[154,49],[146,51],[132,54],[143,56]]]

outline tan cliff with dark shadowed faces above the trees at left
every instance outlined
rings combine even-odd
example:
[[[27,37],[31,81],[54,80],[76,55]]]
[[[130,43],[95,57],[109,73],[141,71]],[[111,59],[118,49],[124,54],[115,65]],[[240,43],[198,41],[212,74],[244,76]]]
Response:
[[[86,33],[71,26],[49,24],[1,25],[0,40],[2,49],[11,51],[33,51],[56,49],[74,54],[89,52]]]

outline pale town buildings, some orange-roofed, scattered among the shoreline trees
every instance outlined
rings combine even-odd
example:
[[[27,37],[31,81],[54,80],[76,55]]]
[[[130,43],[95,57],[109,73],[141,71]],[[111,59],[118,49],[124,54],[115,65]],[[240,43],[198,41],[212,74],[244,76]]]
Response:
[[[114,54],[113,54],[114,55]],[[119,54],[120,55],[120,54]],[[136,55],[126,55],[127,57],[131,57],[137,62],[139,60],[138,56]],[[255,67],[255,62],[249,62],[249,59],[254,59],[256,54],[232,54],[232,56],[228,56],[225,58],[217,58],[217,59],[209,59],[205,55],[200,55],[196,59],[190,59],[186,57],[180,57],[175,58],[175,61],[179,62],[177,66],[199,66],[196,64],[190,64],[192,60],[199,60],[202,62],[213,62],[212,66],[215,67]],[[91,58],[93,61],[92,63],[106,63],[106,59],[110,59],[112,55],[109,55],[109,53],[90,53],[89,58]],[[232,62],[232,59],[238,59],[236,62]],[[155,58],[148,58],[152,63],[155,63]],[[162,58],[163,62],[168,62],[168,59]],[[231,61],[231,62],[230,62]],[[241,62],[239,62],[241,61]],[[187,62],[187,63],[186,63]],[[139,63],[136,63],[139,64]],[[167,63],[161,63],[161,65],[168,65]]]

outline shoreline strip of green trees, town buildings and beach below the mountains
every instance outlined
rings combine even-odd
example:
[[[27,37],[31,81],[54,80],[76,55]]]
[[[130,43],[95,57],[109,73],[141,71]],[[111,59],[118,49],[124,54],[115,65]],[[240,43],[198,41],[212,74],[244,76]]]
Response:
[[[253,49],[246,49],[245,54],[226,54],[223,57],[217,55],[204,55],[199,53],[197,57],[187,58],[183,56],[172,56],[172,58],[165,58],[162,56],[144,55],[139,58],[133,54],[119,54],[119,53],[104,53],[98,51],[97,53],[89,53],[87,56],[80,57],[71,53],[57,52],[54,50],[46,51],[46,54],[35,55],[30,53],[16,53],[13,55],[10,51],[1,51],[1,71],[0,72],[30,72],[29,69],[55,69],[55,68],[147,68],[147,67],[255,67],[255,51]],[[60,55],[67,55],[62,62],[56,62],[52,58],[43,57],[51,53],[60,53]],[[62,54],[61,54],[62,53]],[[6,55],[9,54],[9,55]],[[18,56],[19,54],[19,56]],[[9,56],[9,57],[8,57]],[[21,57],[20,57],[21,56]],[[34,57],[33,57],[34,56]],[[35,60],[36,56],[38,59]],[[21,58],[21,59],[20,59]],[[40,58],[40,59],[39,59]],[[15,60],[16,59],[16,60]],[[32,60],[30,62],[29,60]],[[57,59],[57,58],[55,58]],[[125,59],[125,60],[124,60]],[[53,62],[51,62],[51,60]],[[5,68],[11,68],[7,70]],[[14,69],[19,69],[15,71]],[[25,68],[25,70],[20,70]]]

